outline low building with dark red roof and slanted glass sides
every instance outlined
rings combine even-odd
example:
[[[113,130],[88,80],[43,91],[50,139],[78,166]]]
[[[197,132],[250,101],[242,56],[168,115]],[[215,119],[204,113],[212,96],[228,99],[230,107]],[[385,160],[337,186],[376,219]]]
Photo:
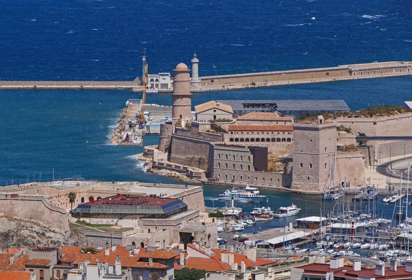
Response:
[[[79,204],[71,211],[74,218],[167,219],[187,212],[180,199],[117,194]]]

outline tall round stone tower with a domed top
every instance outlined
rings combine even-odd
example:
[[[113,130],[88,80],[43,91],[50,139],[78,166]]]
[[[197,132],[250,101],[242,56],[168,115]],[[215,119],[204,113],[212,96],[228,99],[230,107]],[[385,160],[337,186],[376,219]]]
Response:
[[[173,70],[172,118],[191,120],[192,94],[190,93],[190,70],[179,63]]]

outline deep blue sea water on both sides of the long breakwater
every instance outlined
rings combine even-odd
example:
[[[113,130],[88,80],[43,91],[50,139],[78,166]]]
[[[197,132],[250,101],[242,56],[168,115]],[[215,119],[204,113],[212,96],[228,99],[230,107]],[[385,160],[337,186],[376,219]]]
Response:
[[[201,76],[411,60],[411,12],[412,2],[395,0],[1,1],[0,80],[131,80],[141,76],[143,41],[149,73],[190,66],[194,52]],[[194,94],[192,105],[344,99],[357,110],[403,104],[411,92],[412,77],[393,77]],[[109,144],[120,110],[135,97],[122,90],[1,90],[0,186],[33,176],[48,181],[53,168],[55,178],[180,183],[146,173],[134,156],[142,148]],[[171,97],[150,93],[147,101],[170,105]],[[157,141],[146,136],[144,145]],[[206,204],[223,190],[208,187]],[[273,203],[308,199],[266,193]],[[318,205],[312,208],[308,214],[317,214]]]

